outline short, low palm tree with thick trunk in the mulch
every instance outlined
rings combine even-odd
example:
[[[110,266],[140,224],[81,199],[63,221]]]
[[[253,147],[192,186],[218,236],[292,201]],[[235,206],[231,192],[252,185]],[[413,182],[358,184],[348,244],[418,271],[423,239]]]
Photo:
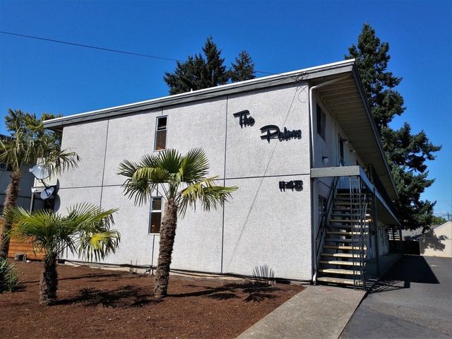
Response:
[[[41,304],[57,301],[57,258],[64,251],[95,261],[116,251],[120,236],[117,230],[110,230],[114,224],[112,214],[116,211],[81,204],[68,208],[67,215],[52,210],[29,212],[18,207],[6,212],[16,224],[9,234],[31,240],[35,249],[45,253],[40,279]]]

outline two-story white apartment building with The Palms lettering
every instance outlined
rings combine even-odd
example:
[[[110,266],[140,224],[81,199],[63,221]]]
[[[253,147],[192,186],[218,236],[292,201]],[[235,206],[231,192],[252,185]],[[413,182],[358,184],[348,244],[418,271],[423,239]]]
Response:
[[[246,117],[246,119],[245,119]],[[250,119],[252,117],[252,119]],[[59,178],[57,209],[120,208],[109,263],[157,263],[161,199],[134,206],[121,160],[201,147],[230,203],[178,220],[172,268],[362,284],[400,223],[391,172],[354,60],[44,122],[81,156]],[[154,222],[153,222],[154,221]],[[75,258],[76,259],[76,258]]]

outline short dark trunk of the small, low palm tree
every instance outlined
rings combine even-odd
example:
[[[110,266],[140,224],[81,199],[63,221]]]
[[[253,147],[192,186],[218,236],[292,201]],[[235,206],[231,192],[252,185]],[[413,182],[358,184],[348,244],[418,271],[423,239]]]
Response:
[[[40,281],[40,304],[52,305],[57,302],[57,254],[47,254]]]

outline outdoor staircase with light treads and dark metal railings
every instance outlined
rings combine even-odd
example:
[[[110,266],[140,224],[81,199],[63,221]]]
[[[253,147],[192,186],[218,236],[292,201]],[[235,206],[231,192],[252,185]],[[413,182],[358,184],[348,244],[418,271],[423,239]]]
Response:
[[[359,182],[349,189],[338,189],[332,201],[323,246],[317,263],[317,283],[365,286],[365,261],[369,242],[371,214],[369,194]]]

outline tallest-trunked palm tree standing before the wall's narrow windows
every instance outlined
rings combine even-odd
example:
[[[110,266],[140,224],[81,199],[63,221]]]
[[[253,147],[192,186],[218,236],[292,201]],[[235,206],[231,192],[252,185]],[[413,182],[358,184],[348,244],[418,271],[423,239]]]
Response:
[[[160,249],[155,272],[155,297],[167,295],[169,266],[176,235],[177,214],[182,216],[188,206],[201,203],[204,210],[218,208],[230,198],[234,187],[217,186],[216,177],[206,177],[208,160],[203,150],[196,148],[186,155],[177,150],[164,150],[158,155],[145,155],[138,162],[124,160],[119,174],[124,182],[124,194],[135,203],[146,203],[155,191],[165,197],[165,208],[160,227]]]

